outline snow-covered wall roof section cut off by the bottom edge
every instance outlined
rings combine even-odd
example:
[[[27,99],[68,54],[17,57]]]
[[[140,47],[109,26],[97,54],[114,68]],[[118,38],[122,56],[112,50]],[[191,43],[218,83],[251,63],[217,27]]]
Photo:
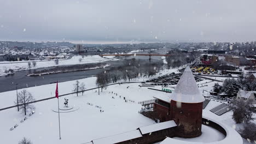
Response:
[[[118,142],[123,142],[131,139],[136,139],[142,137],[139,130],[128,131],[126,133],[121,133],[117,135],[103,137],[101,139],[92,140],[94,144],[113,144]]]

